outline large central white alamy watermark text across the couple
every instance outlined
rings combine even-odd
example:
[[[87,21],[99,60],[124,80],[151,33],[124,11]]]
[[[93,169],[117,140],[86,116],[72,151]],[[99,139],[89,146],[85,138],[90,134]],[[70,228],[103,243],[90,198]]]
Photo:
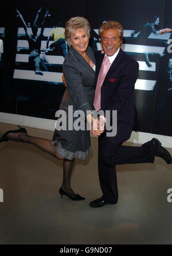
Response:
[[[105,130],[109,131],[106,133],[107,137],[114,137],[117,133],[117,111],[116,110],[87,110],[85,115],[83,110],[73,111],[73,106],[68,106],[68,110],[57,110],[55,117],[57,121],[55,124],[56,130],[91,130],[89,123],[85,124],[87,115],[91,114],[94,119],[98,117],[105,117]],[[97,130],[97,126],[93,127]]]

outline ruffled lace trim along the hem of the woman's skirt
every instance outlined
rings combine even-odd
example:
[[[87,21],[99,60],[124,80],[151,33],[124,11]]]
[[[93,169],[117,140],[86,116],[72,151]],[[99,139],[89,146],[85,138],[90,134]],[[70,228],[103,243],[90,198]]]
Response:
[[[83,151],[75,151],[71,152],[68,151],[67,149],[62,148],[62,145],[60,143],[60,140],[55,140],[51,142],[51,145],[55,146],[55,150],[60,154],[60,156],[67,158],[69,160],[72,160],[73,158],[80,158],[85,160],[88,157],[88,154],[91,152],[91,146],[89,146],[88,150],[83,152]]]

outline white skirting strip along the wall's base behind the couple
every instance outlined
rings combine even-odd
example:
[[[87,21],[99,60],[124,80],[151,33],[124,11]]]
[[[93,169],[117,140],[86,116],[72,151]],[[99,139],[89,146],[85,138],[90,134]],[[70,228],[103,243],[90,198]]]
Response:
[[[28,117],[26,115],[16,115],[3,112],[0,112],[0,122],[50,131],[54,131],[56,123],[55,120],[51,119]],[[142,133],[140,131],[137,133],[133,131],[131,138],[128,139],[127,142],[143,144],[152,138],[159,139],[159,141],[162,143],[162,146],[165,146],[166,148],[172,148],[172,137],[151,133]]]

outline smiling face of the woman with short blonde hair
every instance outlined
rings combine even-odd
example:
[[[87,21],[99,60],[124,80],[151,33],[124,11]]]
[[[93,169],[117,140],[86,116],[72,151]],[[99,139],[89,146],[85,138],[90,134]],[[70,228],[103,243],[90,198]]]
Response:
[[[82,28],[76,29],[76,32],[71,35],[70,43],[73,48],[80,54],[85,52],[88,47],[89,37],[86,31]]]

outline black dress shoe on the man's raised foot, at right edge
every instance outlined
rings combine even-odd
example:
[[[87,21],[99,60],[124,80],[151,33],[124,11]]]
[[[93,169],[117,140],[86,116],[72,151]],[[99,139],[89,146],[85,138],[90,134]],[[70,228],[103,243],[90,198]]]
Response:
[[[151,139],[151,142],[155,146],[155,156],[161,157],[167,164],[172,164],[172,157],[170,153],[161,146],[161,142],[156,138]]]

